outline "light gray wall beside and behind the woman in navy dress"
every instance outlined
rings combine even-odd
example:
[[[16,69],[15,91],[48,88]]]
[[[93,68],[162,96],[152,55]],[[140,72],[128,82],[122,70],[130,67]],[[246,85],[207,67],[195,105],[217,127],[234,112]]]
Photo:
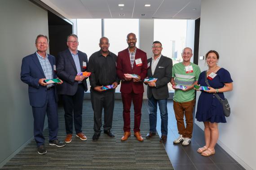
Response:
[[[199,39],[199,55],[218,51],[218,64],[234,81],[233,91],[225,93],[231,115],[227,123],[219,123],[218,144],[247,170],[256,170],[255,7],[255,0],[202,0]],[[199,66],[207,69],[203,60]]]

